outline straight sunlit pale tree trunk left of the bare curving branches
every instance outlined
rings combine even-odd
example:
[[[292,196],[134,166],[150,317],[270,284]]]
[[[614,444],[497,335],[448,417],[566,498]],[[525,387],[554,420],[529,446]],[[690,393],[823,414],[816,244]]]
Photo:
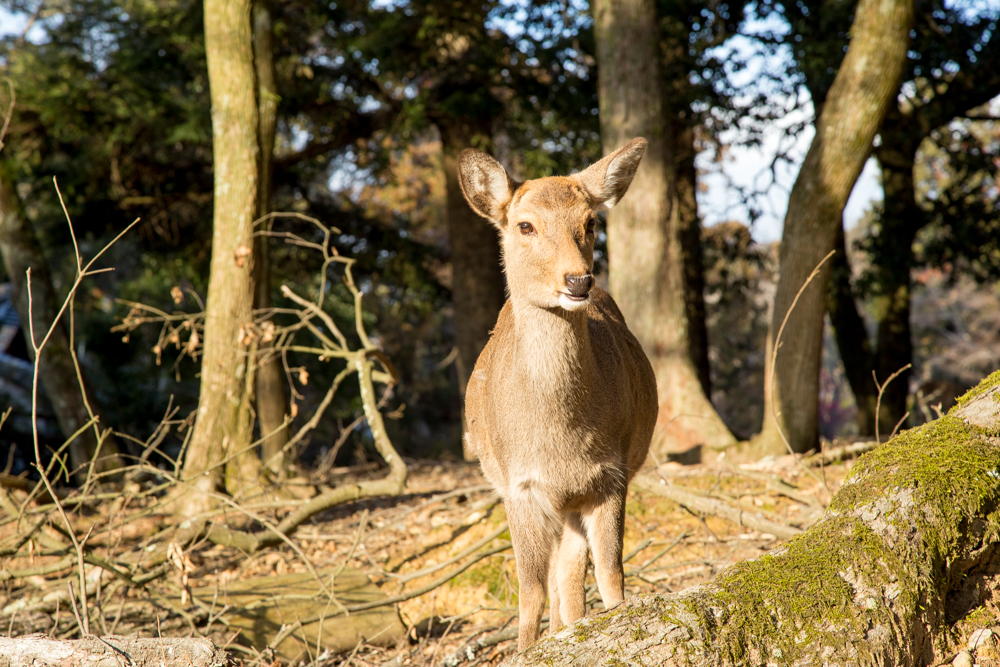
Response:
[[[253,385],[247,381],[253,319],[253,221],[257,210],[257,100],[250,0],[205,0],[205,51],[212,97],[215,173],[212,261],[205,307],[197,420],[177,509],[194,513],[226,476],[256,481],[248,450]],[[259,469],[259,459],[256,466]],[[227,484],[229,486],[229,484]]]

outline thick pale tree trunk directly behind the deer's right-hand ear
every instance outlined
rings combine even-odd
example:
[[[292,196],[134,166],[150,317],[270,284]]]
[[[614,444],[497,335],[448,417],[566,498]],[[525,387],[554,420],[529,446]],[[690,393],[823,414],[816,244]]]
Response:
[[[593,8],[604,152],[638,136],[649,141],[628,194],[608,216],[608,256],[611,294],[656,372],[660,414],[652,452],[725,447],[735,438],[692,361],[685,239],[697,217],[682,215],[654,3],[599,0]]]

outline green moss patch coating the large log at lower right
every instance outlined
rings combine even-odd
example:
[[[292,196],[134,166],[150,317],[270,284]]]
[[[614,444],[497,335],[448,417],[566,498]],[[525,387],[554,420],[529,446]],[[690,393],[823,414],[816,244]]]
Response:
[[[819,524],[784,550],[723,573],[717,591],[698,602],[697,616],[732,664],[788,664],[817,646],[844,649],[847,642],[858,664],[877,662],[864,641],[870,631],[903,638],[886,606],[888,591],[866,582],[890,582],[897,608],[920,613],[941,584],[944,559],[969,539],[972,518],[996,516],[998,478],[1000,452],[960,419],[906,431],[859,460]],[[907,511],[906,503],[922,511]],[[869,527],[875,522],[880,532],[920,539],[922,558],[895,553]],[[991,519],[987,531],[997,534],[998,524]]]

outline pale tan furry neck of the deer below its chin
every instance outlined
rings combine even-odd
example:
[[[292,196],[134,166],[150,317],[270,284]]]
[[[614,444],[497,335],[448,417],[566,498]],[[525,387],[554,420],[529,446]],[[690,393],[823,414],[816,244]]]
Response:
[[[528,391],[582,398],[580,387],[589,386],[594,357],[587,331],[587,312],[538,308],[517,303],[514,307],[515,356]]]

